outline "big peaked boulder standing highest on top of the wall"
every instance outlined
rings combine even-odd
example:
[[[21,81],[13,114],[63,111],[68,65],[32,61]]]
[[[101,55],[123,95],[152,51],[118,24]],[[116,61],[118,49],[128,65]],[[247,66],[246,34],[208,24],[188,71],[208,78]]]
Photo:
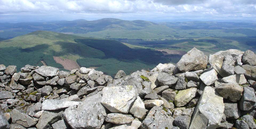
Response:
[[[179,71],[185,73],[187,71],[196,71],[205,69],[208,63],[208,57],[197,48],[193,48],[187,54],[183,55],[177,63]]]

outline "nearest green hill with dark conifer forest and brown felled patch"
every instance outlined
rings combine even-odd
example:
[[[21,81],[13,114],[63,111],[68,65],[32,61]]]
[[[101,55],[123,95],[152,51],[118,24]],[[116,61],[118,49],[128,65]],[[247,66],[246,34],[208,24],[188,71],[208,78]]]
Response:
[[[171,61],[161,52],[151,49],[133,49],[114,40],[50,31],[35,31],[0,41],[0,53],[0,64],[18,64],[18,70],[26,64],[46,64],[64,70],[63,65],[57,62],[65,63],[66,60],[69,63],[73,60],[71,62],[79,66],[95,67],[110,75],[120,69],[129,74],[136,70],[151,69],[160,62]]]

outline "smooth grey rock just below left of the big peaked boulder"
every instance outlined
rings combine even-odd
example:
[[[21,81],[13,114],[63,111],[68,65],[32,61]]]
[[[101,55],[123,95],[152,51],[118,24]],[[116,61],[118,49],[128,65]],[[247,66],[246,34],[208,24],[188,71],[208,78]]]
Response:
[[[177,82],[178,78],[172,76],[168,73],[159,72],[157,76],[157,82],[160,86],[168,85],[169,87],[172,86]]]

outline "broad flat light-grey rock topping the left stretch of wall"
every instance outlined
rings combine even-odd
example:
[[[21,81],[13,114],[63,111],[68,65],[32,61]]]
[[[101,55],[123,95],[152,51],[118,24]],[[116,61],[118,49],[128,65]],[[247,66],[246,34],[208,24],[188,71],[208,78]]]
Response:
[[[57,75],[59,71],[58,68],[51,66],[41,66],[39,69],[36,69],[35,72],[42,75],[43,77],[53,77]]]

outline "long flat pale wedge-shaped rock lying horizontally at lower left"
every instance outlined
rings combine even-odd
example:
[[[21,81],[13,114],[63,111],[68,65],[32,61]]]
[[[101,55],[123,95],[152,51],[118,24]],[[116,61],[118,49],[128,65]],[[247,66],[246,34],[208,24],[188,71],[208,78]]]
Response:
[[[80,102],[76,101],[47,99],[42,103],[42,110],[60,110],[71,106],[77,106],[79,104]]]

